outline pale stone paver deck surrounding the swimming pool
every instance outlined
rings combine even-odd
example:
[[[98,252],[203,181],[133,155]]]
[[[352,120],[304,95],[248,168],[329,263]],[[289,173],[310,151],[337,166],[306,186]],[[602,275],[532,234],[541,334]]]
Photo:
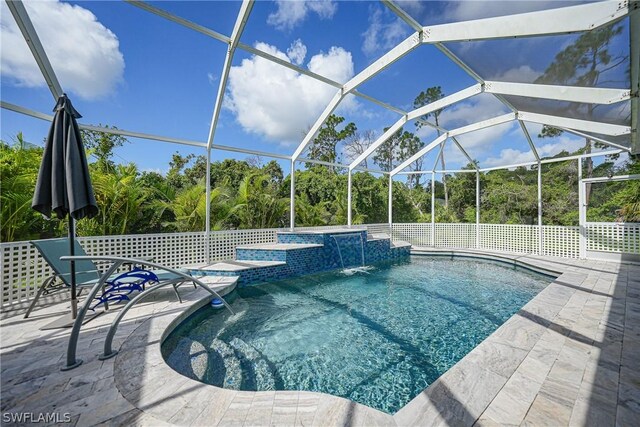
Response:
[[[184,304],[169,289],[129,312],[115,358],[97,356],[117,309],[92,320],[78,345],[84,363],[69,372],[59,371],[69,331],[39,330],[67,303],[28,320],[5,316],[0,409],[69,411],[72,426],[640,425],[640,266],[498,255],[563,273],[394,416],[318,393],[237,392],[176,373],[159,343],[206,296],[189,287],[180,289]]]

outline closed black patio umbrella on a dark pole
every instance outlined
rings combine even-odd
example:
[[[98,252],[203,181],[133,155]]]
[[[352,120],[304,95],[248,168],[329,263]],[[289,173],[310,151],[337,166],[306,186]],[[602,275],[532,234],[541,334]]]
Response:
[[[45,143],[42,163],[31,207],[59,219],[69,216],[69,254],[74,255],[75,220],[98,214],[91,186],[77,118],[82,117],[63,94],[53,110],[55,115]],[[77,314],[75,263],[71,262],[71,312]]]

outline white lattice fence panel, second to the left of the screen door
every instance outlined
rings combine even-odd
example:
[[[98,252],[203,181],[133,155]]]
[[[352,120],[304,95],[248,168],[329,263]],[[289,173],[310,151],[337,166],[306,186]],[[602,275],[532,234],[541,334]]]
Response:
[[[480,224],[482,249],[538,253],[538,227],[535,225]]]

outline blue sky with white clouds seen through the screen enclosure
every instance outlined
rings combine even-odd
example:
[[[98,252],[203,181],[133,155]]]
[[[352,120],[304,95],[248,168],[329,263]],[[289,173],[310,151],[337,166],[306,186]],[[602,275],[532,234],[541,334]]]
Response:
[[[235,1],[152,4],[225,35],[231,33],[240,7]],[[423,24],[563,5],[555,1],[400,4]],[[43,85],[26,44],[21,43],[13,28],[15,24],[4,3],[2,8],[2,99],[49,113],[55,102]],[[224,43],[122,2],[36,2],[27,4],[27,10],[63,88],[83,115],[82,123],[206,141],[226,51]],[[345,82],[411,32],[378,2],[258,1],[241,41]],[[483,78],[531,82],[576,37],[458,43],[448,47],[472,64]],[[625,42],[628,45],[626,33],[616,42],[616,49],[624,50]],[[415,96],[427,87],[439,85],[445,94],[450,94],[474,83],[442,52],[425,45],[358,90],[410,110]],[[238,50],[214,142],[290,155],[335,91]],[[440,121],[453,128],[505,112],[508,110],[494,97],[481,94],[448,108]],[[384,127],[399,118],[394,112],[356,97],[347,98],[337,113],[356,123],[359,131],[374,135],[380,135]],[[41,143],[46,136],[47,122],[7,110],[1,110],[1,114],[0,136],[5,141],[19,131],[33,143]],[[538,141],[539,126],[529,127],[544,155],[561,149],[572,151],[583,144],[582,139],[569,135]],[[413,124],[406,128],[416,131]],[[485,166],[533,160],[519,129],[511,123],[462,135],[459,141]],[[425,143],[436,137],[427,128],[418,135]],[[164,172],[175,151],[185,155],[204,153],[184,145],[131,139],[130,144],[118,149],[116,161],[135,162],[142,170]],[[425,161],[429,169],[435,156],[432,153]],[[246,156],[213,153],[214,160],[226,157]],[[448,168],[466,163],[450,142],[445,157]],[[288,171],[288,162],[281,164]]]

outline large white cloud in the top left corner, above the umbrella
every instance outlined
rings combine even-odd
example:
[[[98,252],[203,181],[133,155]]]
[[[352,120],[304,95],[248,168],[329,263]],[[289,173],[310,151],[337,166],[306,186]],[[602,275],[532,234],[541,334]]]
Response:
[[[58,1],[24,4],[64,90],[96,99],[122,81],[125,64],[118,38],[93,13]],[[2,77],[18,86],[46,86],[7,5],[1,7]]]

